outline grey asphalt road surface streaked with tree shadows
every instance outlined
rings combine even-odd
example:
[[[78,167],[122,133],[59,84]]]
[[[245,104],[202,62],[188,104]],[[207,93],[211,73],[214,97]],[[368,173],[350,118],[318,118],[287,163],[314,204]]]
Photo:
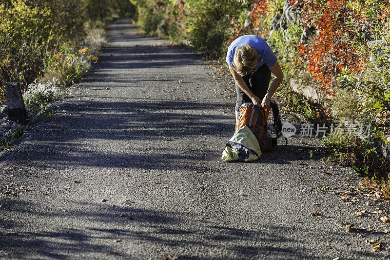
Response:
[[[389,205],[368,206],[350,168],[318,160],[312,137],[223,163],[234,86],[202,56],[134,29],[114,22],[95,73],[0,154],[0,259],[387,256],[389,224],[372,212]]]

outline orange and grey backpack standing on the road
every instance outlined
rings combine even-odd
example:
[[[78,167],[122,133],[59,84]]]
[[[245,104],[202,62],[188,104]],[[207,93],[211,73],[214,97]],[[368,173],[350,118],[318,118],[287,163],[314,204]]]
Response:
[[[268,116],[270,109],[264,109],[258,107],[252,103],[243,103],[238,112],[238,119],[235,123],[235,130],[238,131],[245,125],[251,129],[252,133],[256,137],[260,145],[262,152],[271,151],[273,147],[276,147],[277,140],[282,136],[282,123],[280,121],[279,109],[275,101],[271,101],[271,108],[273,111],[274,123],[273,126],[276,130],[276,136],[273,138],[268,127]],[[286,144],[287,145],[287,139]]]

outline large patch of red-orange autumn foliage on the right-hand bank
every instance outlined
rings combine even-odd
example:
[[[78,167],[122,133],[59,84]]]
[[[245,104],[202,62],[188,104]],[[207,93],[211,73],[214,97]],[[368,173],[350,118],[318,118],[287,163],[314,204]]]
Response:
[[[365,18],[347,5],[346,0],[328,0],[322,4],[315,0],[289,0],[299,13],[302,25],[315,27],[317,36],[313,46],[301,45],[298,53],[308,61],[308,72],[328,96],[334,95],[331,83],[341,69],[360,69],[366,62],[351,41],[356,36],[355,28],[363,31]],[[320,15],[318,15],[320,14]],[[354,28],[349,22],[353,20]]]

